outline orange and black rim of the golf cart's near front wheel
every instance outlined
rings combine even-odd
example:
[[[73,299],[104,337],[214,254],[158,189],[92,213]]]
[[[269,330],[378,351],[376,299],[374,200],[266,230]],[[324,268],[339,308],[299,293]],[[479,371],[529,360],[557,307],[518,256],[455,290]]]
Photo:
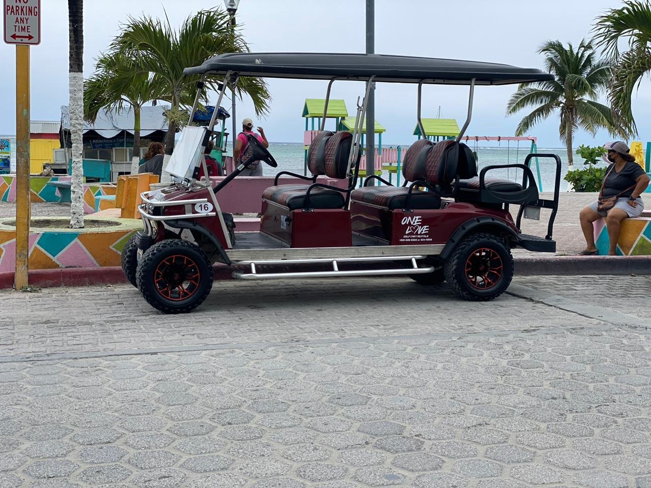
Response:
[[[154,271],[154,286],[159,295],[170,301],[189,299],[199,290],[201,274],[192,258],[174,254],[162,260]]]

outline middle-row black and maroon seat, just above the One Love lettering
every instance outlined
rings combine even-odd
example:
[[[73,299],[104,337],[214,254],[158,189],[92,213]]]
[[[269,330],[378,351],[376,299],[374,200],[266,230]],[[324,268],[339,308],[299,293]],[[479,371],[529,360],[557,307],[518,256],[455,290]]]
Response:
[[[402,163],[402,176],[410,187],[371,186],[353,191],[352,201],[373,205],[386,210],[436,210],[441,208],[441,197],[434,189],[443,193],[450,188],[456,176],[456,142],[442,141],[434,144],[427,139],[419,139],[409,146]],[[366,180],[369,181],[369,178]],[[365,182],[366,183],[366,182]],[[422,184],[421,184],[422,183]],[[415,186],[429,186],[430,191],[421,191]]]

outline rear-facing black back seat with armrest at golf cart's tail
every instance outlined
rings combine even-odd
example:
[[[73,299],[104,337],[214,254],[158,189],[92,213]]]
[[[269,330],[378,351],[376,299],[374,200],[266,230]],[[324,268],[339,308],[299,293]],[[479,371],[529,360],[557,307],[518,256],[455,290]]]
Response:
[[[521,168],[529,177],[529,184],[523,187],[520,183],[499,178],[484,178],[490,169]],[[459,187],[456,191],[458,202],[473,203],[526,203],[538,200],[538,189],[533,180],[533,173],[525,165],[492,165],[482,169],[482,175],[477,176],[477,161],[468,146],[459,144]],[[483,183],[482,183],[483,182]]]

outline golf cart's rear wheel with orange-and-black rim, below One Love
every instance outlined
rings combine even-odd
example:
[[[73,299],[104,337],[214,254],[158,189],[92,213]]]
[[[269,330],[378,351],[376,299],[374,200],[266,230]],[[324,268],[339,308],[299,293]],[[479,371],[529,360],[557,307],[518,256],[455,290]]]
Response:
[[[488,301],[499,297],[513,278],[513,256],[492,234],[465,237],[445,263],[445,279],[465,300]]]

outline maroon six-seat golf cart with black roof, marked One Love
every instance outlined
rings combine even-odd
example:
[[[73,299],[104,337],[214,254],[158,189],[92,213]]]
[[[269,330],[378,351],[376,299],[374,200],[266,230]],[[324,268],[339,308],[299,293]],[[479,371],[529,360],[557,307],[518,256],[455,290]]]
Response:
[[[235,87],[240,76],[321,79],[329,85],[321,130],[307,154],[311,174],[279,172],[275,185],[262,195],[260,232],[233,232],[232,217],[220,210],[215,194],[251,161],[276,167],[273,156],[251,138],[239,165],[224,180],[200,181],[202,167],[208,174],[202,154],[218,111],[207,127],[184,129],[167,165],[173,183],[141,195],[144,228],[122,254],[126,276],[158,310],[189,312],[200,305],[212,288],[215,263],[229,265],[232,277],[243,280],[406,275],[421,284],[446,281],[467,300],[490,300],[510,284],[510,249],[556,249],[551,234],[559,158],[530,154],[523,164],[493,165],[478,173],[473,152],[459,142],[470,122],[475,86],[544,81],[552,79],[549,74],[486,62],[322,53],[225,54],[187,68],[186,74],[201,75],[190,120],[209,84],[219,92],[219,107],[225,90]],[[324,130],[337,80],[366,85],[352,133]],[[357,178],[366,100],[374,82],[417,85],[421,133],[422,85],[469,87],[467,120],[456,141],[420,139],[409,146],[400,187],[380,176],[369,176],[363,185]],[[553,200],[538,195],[532,157],[555,161]],[[521,182],[487,178],[488,172],[506,167],[521,169]],[[296,183],[279,185],[282,175],[294,176]],[[343,184],[318,181],[323,175]],[[519,206],[515,222],[510,205]],[[523,215],[539,217],[541,208],[551,210],[547,235],[522,234]]]

